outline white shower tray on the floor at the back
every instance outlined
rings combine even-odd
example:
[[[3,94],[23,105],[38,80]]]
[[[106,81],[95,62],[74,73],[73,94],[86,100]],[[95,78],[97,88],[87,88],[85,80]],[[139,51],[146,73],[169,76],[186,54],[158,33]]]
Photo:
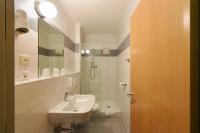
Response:
[[[99,101],[99,109],[93,113],[93,117],[121,117],[119,105],[114,101]]]

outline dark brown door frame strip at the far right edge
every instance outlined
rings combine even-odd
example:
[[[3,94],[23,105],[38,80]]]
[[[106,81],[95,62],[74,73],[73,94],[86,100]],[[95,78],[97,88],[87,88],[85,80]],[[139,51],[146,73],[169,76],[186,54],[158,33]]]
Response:
[[[190,132],[199,133],[199,0],[190,0]]]

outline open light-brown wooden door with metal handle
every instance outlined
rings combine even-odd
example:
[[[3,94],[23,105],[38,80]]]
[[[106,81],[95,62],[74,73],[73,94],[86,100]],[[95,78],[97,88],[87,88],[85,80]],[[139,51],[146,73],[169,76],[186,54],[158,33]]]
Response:
[[[190,132],[189,3],[141,0],[131,18],[132,133]]]

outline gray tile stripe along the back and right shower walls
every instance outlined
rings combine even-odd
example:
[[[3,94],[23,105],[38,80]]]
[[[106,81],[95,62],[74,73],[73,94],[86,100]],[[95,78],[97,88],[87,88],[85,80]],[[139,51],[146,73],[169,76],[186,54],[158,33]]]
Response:
[[[130,46],[130,34],[124,39],[124,41],[120,44],[118,49],[111,49],[110,54],[104,55],[103,54],[103,49],[95,49],[95,56],[118,56],[120,53],[122,53],[125,49],[127,49]],[[89,55],[82,55],[83,57],[88,57],[91,56]]]

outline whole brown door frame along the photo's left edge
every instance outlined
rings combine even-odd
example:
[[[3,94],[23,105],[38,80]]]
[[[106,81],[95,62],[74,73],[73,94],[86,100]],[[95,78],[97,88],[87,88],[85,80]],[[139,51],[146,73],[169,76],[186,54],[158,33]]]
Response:
[[[15,132],[14,0],[0,1],[0,132]]]

